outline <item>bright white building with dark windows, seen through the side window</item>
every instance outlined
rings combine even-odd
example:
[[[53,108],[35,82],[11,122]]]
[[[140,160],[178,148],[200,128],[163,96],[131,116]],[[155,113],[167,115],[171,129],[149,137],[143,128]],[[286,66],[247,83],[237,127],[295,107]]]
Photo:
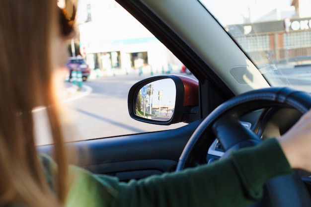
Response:
[[[105,74],[162,72],[181,62],[114,0],[84,0],[78,17],[80,52]],[[100,9],[99,9],[100,8]]]

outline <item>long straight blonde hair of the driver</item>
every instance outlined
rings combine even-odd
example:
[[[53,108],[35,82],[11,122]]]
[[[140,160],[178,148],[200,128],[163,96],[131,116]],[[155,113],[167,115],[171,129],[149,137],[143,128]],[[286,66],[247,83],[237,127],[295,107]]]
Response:
[[[0,206],[62,206],[67,159],[52,81],[56,0],[0,0]],[[58,164],[50,189],[35,148],[32,109],[46,107]],[[53,192],[53,193],[52,193]]]

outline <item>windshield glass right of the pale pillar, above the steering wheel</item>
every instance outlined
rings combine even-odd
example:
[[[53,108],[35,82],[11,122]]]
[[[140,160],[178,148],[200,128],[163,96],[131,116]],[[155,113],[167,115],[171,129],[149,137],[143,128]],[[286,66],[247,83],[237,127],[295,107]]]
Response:
[[[200,0],[271,86],[311,92],[310,0]]]

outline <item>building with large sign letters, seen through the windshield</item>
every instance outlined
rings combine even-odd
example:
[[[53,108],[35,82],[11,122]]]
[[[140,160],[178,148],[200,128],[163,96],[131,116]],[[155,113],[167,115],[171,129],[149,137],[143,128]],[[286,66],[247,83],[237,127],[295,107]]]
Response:
[[[310,8],[311,0],[292,0],[291,6],[295,8],[272,9],[256,18],[249,15],[244,23],[228,25],[227,30],[251,56],[253,52],[257,65],[265,64],[266,57],[275,64],[310,64],[311,17],[309,9],[303,8]]]

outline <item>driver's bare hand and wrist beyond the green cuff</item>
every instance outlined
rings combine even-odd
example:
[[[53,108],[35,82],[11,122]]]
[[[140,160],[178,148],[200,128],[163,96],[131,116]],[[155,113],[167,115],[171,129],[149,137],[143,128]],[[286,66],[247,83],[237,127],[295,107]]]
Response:
[[[311,110],[278,140],[292,168],[311,172]]]

